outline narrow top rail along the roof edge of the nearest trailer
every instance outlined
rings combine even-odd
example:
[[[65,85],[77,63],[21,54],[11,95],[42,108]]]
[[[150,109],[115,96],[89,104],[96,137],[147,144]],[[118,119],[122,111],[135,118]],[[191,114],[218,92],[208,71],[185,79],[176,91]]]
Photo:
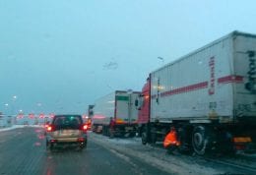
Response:
[[[192,51],[192,52],[190,52],[190,53],[188,53],[188,54],[186,54],[186,55],[184,55],[184,56],[182,56],[182,57],[180,57],[178,59],[175,59],[174,61],[172,61],[170,63],[167,63],[167,64],[163,65],[159,69],[151,72],[151,74],[155,73],[155,72],[158,72],[161,69],[164,69],[165,67],[168,67],[169,65],[173,65],[173,64],[175,64],[175,63],[177,63],[179,61],[185,60],[186,58],[188,58],[191,55],[197,54],[197,53],[201,52],[202,50],[205,50],[205,49],[207,49],[207,48],[209,48],[209,47],[211,47],[213,45],[216,45],[216,44],[222,42],[224,39],[227,39],[227,38],[230,38],[230,37],[234,37],[234,36],[238,36],[238,35],[242,35],[242,36],[245,36],[245,37],[256,37],[256,34],[252,34],[252,33],[248,33],[248,32],[242,32],[242,31],[238,31],[238,30],[233,30],[232,32],[230,32],[228,34],[225,34],[223,37],[221,37],[221,38],[219,38],[217,40],[214,40],[214,41],[210,42],[209,44],[207,44],[207,45],[205,45],[203,47],[200,47],[200,48],[198,48],[198,49],[196,49],[196,50],[194,50],[194,51]]]

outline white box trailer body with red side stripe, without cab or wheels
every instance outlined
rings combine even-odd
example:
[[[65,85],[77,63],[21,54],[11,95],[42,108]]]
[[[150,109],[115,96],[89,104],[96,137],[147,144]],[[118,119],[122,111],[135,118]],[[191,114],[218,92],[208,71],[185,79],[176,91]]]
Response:
[[[151,73],[151,121],[256,118],[253,52],[256,35],[235,31]]]

